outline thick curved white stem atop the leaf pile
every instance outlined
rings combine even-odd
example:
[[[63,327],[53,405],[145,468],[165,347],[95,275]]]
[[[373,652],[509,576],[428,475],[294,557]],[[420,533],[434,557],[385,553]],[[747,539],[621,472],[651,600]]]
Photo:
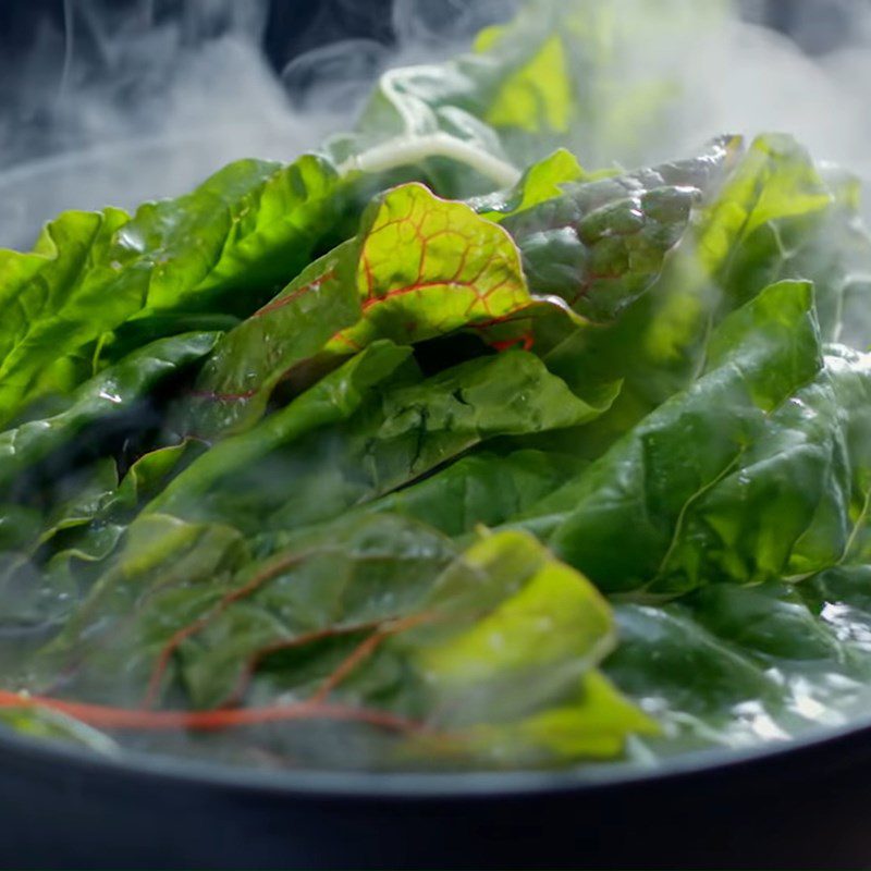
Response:
[[[400,137],[377,145],[361,155],[352,157],[339,168],[342,174],[354,170],[383,172],[384,170],[417,163],[430,157],[446,157],[471,167],[476,172],[495,182],[500,187],[511,187],[520,180],[520,172],[511,163],[493,157],[481,148],[464,143],[446,133],[428,136]]]

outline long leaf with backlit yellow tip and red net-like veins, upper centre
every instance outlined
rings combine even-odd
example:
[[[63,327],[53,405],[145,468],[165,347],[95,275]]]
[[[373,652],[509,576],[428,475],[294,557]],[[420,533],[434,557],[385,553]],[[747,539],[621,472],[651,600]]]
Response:
[[[532,302],[508,234],[419,184],[378,197],[356,238],[312,263],[219,344],[187,429],[248,429],[302,364],[329,370],[372,342],[414,344],[484,327]]]

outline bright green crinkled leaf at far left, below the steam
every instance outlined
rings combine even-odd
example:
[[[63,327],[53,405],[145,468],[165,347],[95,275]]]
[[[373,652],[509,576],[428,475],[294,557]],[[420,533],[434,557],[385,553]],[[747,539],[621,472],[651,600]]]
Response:
[[[59,384],[74,387],[77,357],[113,331],[108,347],[97,346],[109,359],[143,336],[179,332],[191,312],[250,314],[319,245],[341,241],[338,226],[369,189],[319,157],[243,160],[132,219],[112,209],[62,216],[34,253],[0,257],[0,422]]]

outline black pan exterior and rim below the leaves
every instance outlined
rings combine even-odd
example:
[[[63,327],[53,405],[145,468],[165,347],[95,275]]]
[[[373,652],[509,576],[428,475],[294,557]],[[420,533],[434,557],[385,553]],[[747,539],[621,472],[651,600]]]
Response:
[[[871,868],[871,721],[649,771],[265,773],[0,734],[4,868]]]

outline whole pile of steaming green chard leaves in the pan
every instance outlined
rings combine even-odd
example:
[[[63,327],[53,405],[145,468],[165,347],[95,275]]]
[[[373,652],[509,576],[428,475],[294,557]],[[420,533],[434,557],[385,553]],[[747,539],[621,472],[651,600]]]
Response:
[[[618,167],[668,5],[529,0],[320,154],[0,252],[2,723],[463,769],[849,716],[859,183],[783,134]]]

